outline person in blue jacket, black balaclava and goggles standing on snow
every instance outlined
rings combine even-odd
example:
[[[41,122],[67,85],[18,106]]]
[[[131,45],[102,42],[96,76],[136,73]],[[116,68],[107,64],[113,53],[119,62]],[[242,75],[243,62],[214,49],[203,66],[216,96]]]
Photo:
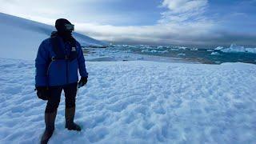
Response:
[[[85,58],[80,44],[72,37],[74,25],[68,20],[56,20],[57,32],[44,40],[38,48],[35,59],[35,86],[38,98],[47,100],[45,110],[46,130],[42,134],[41,143],[47,143],[54,132],[54,122],[61,99],[65,93],[65,118],[68,130],[80,131],[81,127],[74,123],[75,97],[78,86],[87,82]],[[78,70],[81,79],[78,82]]]

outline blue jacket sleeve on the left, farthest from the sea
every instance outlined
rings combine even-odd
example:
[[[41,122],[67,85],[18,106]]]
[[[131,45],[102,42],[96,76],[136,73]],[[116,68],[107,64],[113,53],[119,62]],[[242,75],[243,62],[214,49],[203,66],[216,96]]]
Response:
[[[46,51],[46,42],[42,42],[38,48],[38,55],[35,59],[35,86],[48,86],[47,68],[48,52]]]

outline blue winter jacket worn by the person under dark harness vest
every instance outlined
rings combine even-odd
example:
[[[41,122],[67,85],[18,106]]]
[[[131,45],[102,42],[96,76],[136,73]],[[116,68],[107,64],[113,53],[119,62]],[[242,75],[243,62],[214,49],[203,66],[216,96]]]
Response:
[[[69,55],[72,50],[70,42],[64,42],[60,37],[58,37],[58,42],[64,54]],[[88,77],[85,58],[78,42],[76,42],[75,50],[77,58],[72,61],[65,59],[52,61],[51,59],[56,57],[53,43],[50,38],[44,40],[39,46],[38,55],[35,59],[35,86],[65,86],[69,83],[78,82],[78,70],[81,77]]]

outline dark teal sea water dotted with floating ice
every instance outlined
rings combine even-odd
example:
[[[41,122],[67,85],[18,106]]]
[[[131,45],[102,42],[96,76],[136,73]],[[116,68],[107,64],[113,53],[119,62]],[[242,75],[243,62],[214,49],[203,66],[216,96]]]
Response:
[[[155,58],[176,58],[187,62],[220,64],[223,62],[245,62],[256,64],[256,48],[243,46],[199,49],[184,46],[127,46],[116,45],[106,48],[85,48],[91,55],[110,58],[130,58],[133,54],[154,56]],[[128,59],[129,59],[128,58]]]

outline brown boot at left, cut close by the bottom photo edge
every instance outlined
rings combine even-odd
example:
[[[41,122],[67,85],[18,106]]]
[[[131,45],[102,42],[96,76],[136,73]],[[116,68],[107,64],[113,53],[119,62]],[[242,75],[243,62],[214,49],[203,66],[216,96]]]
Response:
[[[45,113],[46,130],[42,134],[41,144],[47,144],[50,137],[54,134],[54,122],[57,111],[54,113]]]

